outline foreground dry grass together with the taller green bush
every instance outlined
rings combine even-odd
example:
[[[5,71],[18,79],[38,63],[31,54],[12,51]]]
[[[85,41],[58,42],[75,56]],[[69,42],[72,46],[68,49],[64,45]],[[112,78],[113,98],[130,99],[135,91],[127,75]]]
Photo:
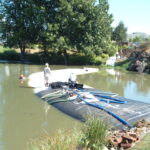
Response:
[[[27,150],[102,150],[107,144],[107,129],[103,121],[90,118],[78,131],[58,131],[32,140]]]

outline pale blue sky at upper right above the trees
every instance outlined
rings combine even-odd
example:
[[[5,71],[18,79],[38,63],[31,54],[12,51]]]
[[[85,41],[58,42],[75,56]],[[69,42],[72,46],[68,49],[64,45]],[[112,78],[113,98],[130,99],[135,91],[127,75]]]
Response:
[[[150,35],[150,0],[108,0],[113,27],[122,21],[128,33],[144,32]]]

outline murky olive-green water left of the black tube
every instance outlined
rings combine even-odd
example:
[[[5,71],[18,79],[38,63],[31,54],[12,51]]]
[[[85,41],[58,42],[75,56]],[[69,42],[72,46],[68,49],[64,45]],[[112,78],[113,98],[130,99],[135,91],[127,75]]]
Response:
[[[42,67],[0,64],[0,150],[23,150],[31,138],[79,124],[41,101],[26,83],[20,84],[20,74],[28,76]]]

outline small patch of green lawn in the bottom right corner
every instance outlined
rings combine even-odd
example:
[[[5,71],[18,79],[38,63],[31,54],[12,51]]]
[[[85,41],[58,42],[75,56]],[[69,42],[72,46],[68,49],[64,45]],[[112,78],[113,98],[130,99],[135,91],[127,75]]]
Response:
[[[150,133],[148,133],[139,143],[129,150],[150,150]]]

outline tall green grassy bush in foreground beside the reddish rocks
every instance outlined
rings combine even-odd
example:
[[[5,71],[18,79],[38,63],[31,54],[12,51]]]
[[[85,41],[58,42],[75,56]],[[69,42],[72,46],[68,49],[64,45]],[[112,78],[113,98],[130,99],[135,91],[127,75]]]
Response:
[[[80,145],[90,150],[102,150],[106,144],[108,126],[100,119],[90,117],[82,130]]]

